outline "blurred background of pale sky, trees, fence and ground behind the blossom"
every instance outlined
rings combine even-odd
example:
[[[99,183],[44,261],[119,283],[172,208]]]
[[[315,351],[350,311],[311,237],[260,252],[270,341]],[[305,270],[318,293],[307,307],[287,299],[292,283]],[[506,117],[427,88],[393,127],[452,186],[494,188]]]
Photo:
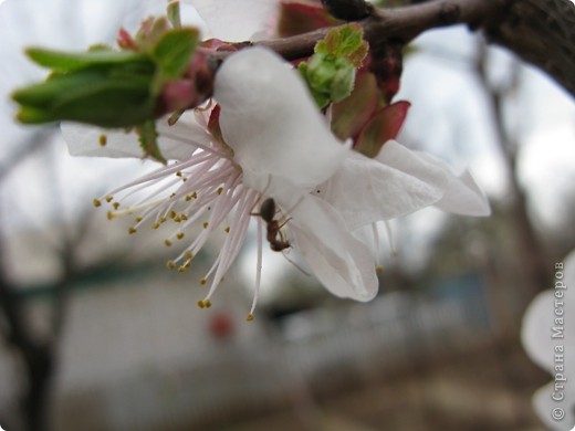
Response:
[[[18,8],[8,8],[15,1]],[[160,4],[161,11],[163,2]],[[245,322],[254,238],[206,311],[163,232],[128,235],[92,199],[154,169],[71,158],[58,127],[13,123],[10,92],[43,72],[22,46],[83,49],[134,27],[143,2],[0,3],[0,425],[6,430],[541,430],[551,377],[521,318],[575,248],[575,104],[463,28],[428,32],[405,61],[412,107],[398,140],[490,197],[485,219],[428,209],[394,221],[380,294],[330,296],[264,254]],[[23,24],[25,22],[25,25]]]

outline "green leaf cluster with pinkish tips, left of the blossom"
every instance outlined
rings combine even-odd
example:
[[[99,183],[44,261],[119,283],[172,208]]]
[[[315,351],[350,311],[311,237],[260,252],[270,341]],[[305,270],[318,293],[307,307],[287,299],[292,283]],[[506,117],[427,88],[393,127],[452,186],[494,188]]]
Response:
[[[139,125],[164,114],[161,92],[188,70],[199,31],[172,29],[166,18],[150,18],[135,40],[124,38],[129,42],[124,51],[102,45],[82,53],[29,49],[30,59],[53,73],[43,83],[12,94],[20,104],[18,118],[27,124],[75,120],[103,127],[138,126],[149,155],[161,159],[150,127]]]

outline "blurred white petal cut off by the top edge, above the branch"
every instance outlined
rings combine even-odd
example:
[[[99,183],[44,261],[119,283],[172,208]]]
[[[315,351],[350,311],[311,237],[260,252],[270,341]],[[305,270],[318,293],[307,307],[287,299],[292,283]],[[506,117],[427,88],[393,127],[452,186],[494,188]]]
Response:
[[[278,9],[278,0],[188,0],[211,34],[227,42],[243,42],[262,31]]]

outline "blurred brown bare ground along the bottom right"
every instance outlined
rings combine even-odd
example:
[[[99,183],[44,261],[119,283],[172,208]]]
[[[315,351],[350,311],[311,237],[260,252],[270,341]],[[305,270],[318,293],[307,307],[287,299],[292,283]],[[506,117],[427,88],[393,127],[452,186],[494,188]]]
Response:
[[[492,343],[464,355],[414,362],[393,376],[318,395],[315,406],[255,418],[228,418],[201,429],[226,431],[526,431],[544,430],[531,409],[548,381],[518,343]],[[369,380],[369,381],[368,381]]]

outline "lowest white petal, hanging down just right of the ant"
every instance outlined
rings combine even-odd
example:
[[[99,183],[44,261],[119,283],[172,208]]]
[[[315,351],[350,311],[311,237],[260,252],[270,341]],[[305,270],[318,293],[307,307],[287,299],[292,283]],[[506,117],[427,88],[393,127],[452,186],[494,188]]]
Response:
[[[290,217],[300,253],[332,294],[356,301],[369,301],[377,294],[369,249],[346,230],[327,202],[306,196]]]

